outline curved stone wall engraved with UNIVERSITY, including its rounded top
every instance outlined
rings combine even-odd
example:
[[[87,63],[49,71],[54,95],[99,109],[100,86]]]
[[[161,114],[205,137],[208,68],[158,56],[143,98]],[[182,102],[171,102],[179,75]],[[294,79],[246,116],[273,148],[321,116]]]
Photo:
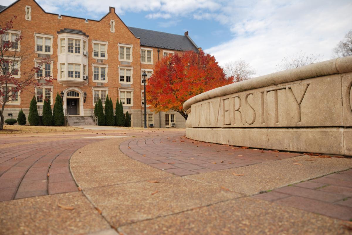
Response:
[[[183,104],[199,141],[352,156],[352,56],[252,78]]]

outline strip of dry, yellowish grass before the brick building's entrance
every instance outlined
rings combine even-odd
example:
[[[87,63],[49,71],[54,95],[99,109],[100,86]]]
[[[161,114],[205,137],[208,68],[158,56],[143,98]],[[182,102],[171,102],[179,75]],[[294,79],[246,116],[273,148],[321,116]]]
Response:
[[[0,134],[48,133],[48,132],[69,132],[69,131],[87,131],[87,130],[82,128],[72,127],[72,126],[4,125],[4,130],[0,130]]]

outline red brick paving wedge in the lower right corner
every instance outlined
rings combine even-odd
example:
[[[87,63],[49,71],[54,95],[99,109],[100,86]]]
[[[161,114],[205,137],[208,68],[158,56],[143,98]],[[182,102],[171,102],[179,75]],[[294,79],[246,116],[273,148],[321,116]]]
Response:
[[[352,169],[253,197],[348,221],[352,219]]]

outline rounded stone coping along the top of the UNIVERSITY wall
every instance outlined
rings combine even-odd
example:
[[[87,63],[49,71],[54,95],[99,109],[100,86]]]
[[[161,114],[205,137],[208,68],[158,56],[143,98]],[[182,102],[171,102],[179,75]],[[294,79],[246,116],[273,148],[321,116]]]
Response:
[[[184,102],[183,109],[188,110],[192,104],[201,102],[203,100],[226,96],[228,94],[233,94],[241,91],[347,72],[352,72],[352,56],[326,60],[315,64],[310,64],[276,73],[270,73],[264,76],[240,81],[238,83],[217,87],[213,90],[201,93],[188,99],[186,102]]]

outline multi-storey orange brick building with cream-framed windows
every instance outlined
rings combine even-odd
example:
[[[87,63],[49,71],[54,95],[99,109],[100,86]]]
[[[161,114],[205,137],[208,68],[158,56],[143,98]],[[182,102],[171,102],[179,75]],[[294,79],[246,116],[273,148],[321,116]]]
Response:
[[[47,13],[34,0],[18,0],[9,6],[0,6],[0,22],[3,25],[13,16],[13,29],[2,40],[12,40],[21,34],[23,40],[18,50],[29,51],[21,61],[18,77],[30,71],[41,57],[51,64],[37,73],[52,76],[50,86],[18,92],[6,105],[4,116],[17,118],[20,109],[29,113],[33,93],[37,95],[38,109],[47,96],[54,106],[55,96],[64,92],[63,105],[68,115],[90,116],[99,98],[105,102],[108,94],[115,105],[121,99],[124,112],[131,114],[134,127],[144,125],[143,81],[155,63],[163,56],[181,51],[199,49],[188,36],[127,27],[110,7],[100,20],[83,19]],[[86,93],[86,99],[83,94]],[[147,107],[148,109],[148,107]],[[5,118],[6,118],[5,117]],[[177,112],[152,113],[147,110],[147,124],[155,127],[184,127],[185,120]]]

